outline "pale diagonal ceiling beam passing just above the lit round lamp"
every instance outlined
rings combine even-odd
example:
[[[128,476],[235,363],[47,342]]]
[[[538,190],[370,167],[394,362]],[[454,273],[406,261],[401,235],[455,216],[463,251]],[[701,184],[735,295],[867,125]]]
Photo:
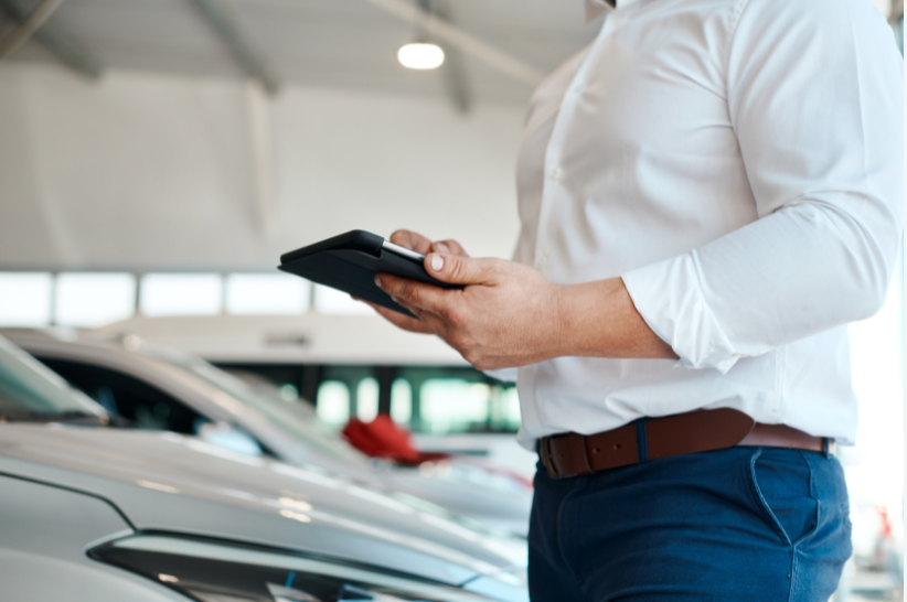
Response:
[[[491,44],[488,44],[474,35],[471,35],[460,28],[441,21],[440,19],[431,19],[431,15],[406,0],[364,0],[373,7],[376,7],[386,13],[396,17],[401,21],[413,25],[413,28],[422,25],[427,20],[431,21],[431,35],[441,42],[446,42],[452,46],[458,47],[463,53],[469,54],[473,58],[481,61],[489,67],[516,79],[529,86],[536,86],[545,76],[541,71],[523,63],[519,58],[502,52]]]

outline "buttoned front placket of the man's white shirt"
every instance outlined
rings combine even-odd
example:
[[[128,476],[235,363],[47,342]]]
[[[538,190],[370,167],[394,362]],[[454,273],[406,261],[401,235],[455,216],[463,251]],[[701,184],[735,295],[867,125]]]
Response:
[[[586,88],[589,73],[598,63],[598,56],[601,46],[613,34],[618,26],[619,19],[616,14],[609,14],[605,19],[601,31],[593,42],[589,52],[576,69],[569,86],[567,86],[564,97],[561,100],[561,106],[557,110],[557,117],[554,121],[552,136],[548,139],[548,144],[545,149],[544,163],[544,180],[542,184],[542,202],[538,211],[538,224],[535,236],[535,249],[533,266],[543,275],[548,268],[551,261],[551,237],[545,236],[544,232],[548,226],[552,212],[558,198],[563,198],[565,194],[563,180],[565,176],[562,158],[564,153],[564,143],[569,130],[570,121],[573,120],[576,105],[579,101],[583,92]]]

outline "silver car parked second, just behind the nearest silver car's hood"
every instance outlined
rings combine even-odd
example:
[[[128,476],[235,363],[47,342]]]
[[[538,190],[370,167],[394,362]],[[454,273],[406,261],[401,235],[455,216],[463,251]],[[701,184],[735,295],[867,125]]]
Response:
[[[198,434],[252,456],[351,476],[525,537],[532,490],[508,471],[465,459],[393,466],[359,453],[319,423],[305,402],[286,401],[200,357],[135,336],[97,340],[74,331],[3,330],[15,344],[141,428]]]

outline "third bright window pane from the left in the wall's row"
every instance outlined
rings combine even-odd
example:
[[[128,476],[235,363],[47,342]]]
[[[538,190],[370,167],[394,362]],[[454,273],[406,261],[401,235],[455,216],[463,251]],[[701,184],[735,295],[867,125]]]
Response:
[[[148,316],[221,313],[223,281],[216,273],[148,273],[139,308]]]

